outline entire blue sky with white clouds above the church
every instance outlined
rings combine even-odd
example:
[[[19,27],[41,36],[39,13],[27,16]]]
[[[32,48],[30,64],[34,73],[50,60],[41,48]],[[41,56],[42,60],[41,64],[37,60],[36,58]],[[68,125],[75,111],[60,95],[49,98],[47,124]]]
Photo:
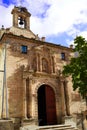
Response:
[[[0,28],[12,26],[14,6],[27,8],[31,31],[47,42],[69,46],[80,35],[87,40],[87,0],[0,0]]]

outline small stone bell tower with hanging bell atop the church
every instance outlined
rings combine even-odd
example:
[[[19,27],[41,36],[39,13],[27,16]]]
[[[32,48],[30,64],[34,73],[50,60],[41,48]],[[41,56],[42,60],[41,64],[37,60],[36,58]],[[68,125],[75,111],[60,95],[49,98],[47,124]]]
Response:
[[[30,30],[31,14],[25,7],[14,7],[11,14],[13,15],[13,26]]]

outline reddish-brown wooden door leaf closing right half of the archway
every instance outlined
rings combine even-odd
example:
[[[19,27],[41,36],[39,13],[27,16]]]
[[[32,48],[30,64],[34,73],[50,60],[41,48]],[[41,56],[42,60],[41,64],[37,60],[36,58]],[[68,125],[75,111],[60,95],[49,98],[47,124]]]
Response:
[[[49,86],[45,87],[45,93],[46,93],[47,125],[54,125],[57,123],[55,93],[53,89]]]

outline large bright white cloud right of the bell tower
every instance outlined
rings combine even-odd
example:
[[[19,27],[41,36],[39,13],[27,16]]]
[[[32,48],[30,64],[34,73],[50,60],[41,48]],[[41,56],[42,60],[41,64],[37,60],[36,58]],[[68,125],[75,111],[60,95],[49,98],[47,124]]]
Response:
[[[31,18],[31,27],[35,32],[42,35],[68,31],[73,24],[78,25],[87,22],[86,4],[86,0],[51,0],[51,7],[47,10],[46,17],[41,19],[33,16]]]

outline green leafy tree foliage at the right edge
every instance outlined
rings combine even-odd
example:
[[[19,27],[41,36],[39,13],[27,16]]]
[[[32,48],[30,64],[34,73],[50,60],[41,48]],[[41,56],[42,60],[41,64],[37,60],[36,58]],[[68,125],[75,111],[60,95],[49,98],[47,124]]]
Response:
[[[78,88],[81,95],[87,94],[87,41],[82,36],[74,39],[74,53],[78,52],[77,57],[70,60],[70,64],[64,66],[63,74],[71,75],[73,89]]]

